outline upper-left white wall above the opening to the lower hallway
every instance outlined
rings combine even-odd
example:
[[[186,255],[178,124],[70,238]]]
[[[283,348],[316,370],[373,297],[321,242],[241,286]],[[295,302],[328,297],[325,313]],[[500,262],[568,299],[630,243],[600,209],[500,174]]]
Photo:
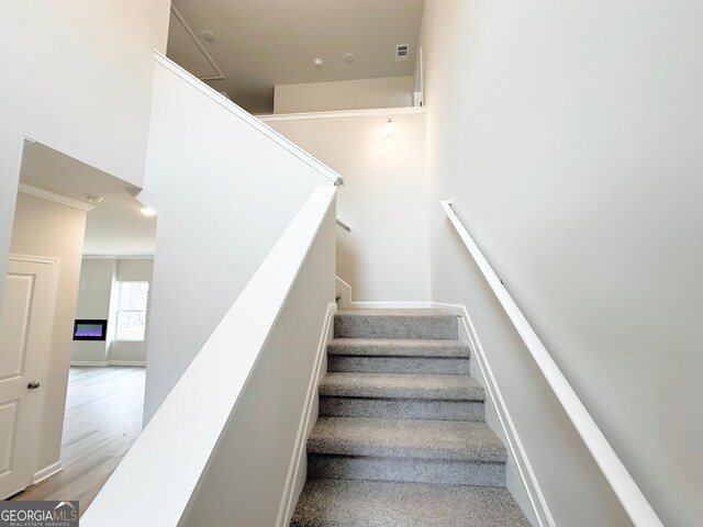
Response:
[[[168,0],[3,0],[0,8],[0,274],[24,137],[141,186],[153,51]],[[11,74],[10,74],[11,72]],[[0,293],[3,285],[0,285]]]

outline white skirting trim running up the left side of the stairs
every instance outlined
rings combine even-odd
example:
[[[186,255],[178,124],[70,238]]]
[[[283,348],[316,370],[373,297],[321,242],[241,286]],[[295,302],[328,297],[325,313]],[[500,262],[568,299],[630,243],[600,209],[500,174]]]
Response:
[[[290,467],[288,469],[288,476],[286,478],[286,485],[283,486],[281,504],[278,508],[278,517],[276,519],[277,527],[286,527],[290,524],[295,503],[298,502],[298,496],[295,494],[300,492],[303,484],[305,483],[305,463],[308,461],[308,458],[305,456],[305,445],[308,435],[310,434],[310,424],[313,421],[313,408],[316,407],[314,402],[315,397],[317,396],[317,386],[320,385],[320,381],[325,373],[323,371],[322,365],[324,363],[323,359],[327,349],[327,343],[332,338],[332,332],[334,328],[333,321],[334,314],[336,312],[336,303],[327,304],[327,312],[325,313],[325,321],[322,326],[322,333],[320,334],[320,341],[317,344],[315,362],[310,374],[310,382],[308,383],[305,404],[300,416],[298,435],[295,436],[295,445],[293,447],[293,453],[290,459]]]

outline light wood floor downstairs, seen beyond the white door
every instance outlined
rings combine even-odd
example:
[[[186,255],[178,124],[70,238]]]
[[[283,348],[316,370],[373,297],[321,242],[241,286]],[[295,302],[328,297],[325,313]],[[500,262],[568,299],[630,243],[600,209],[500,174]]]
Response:
[[[62,464],[64,470],[12,500],[79,500],[80,514],[142,431],[144,368],[71,368]]]

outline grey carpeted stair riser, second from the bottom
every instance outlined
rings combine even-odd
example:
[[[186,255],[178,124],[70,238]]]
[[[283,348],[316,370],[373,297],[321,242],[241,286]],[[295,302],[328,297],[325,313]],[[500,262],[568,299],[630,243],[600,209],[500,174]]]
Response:
[[[366,397],[320,397],[323,417],[483,421],[480,401],[423,401]]]

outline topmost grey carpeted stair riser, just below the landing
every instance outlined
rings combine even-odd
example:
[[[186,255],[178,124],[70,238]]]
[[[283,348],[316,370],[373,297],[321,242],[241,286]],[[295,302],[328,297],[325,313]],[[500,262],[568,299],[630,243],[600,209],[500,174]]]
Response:
[[[403,338],[456,340],[457,319],[453,316],[364,316],[336,315],[335,338]]]

